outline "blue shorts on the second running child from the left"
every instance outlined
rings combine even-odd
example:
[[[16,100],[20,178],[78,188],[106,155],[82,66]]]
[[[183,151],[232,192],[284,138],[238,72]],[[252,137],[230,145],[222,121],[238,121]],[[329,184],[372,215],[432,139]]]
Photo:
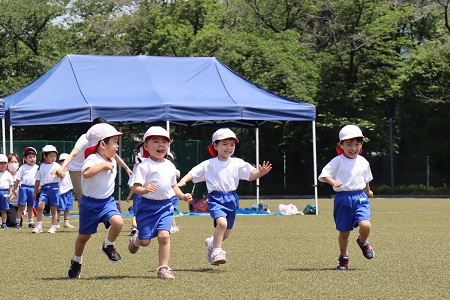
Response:
[[[136,211],[138,238],[149,240],[158,236],[158,231],[170,232],[173,220],[173,198],[168,200],[149,200],[141,198]]]

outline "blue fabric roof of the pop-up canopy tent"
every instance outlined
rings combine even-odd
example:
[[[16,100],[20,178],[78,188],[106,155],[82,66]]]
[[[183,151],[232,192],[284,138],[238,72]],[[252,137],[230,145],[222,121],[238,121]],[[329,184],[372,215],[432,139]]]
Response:
[[[12,126],[112,123],[255,126],[313,121],[315,106],[268,92],[214,57],[67,55],[4,98]]]

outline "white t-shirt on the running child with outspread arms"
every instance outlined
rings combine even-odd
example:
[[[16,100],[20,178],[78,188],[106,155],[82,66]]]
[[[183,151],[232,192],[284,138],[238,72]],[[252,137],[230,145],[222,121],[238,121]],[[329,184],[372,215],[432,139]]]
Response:
[[[249,180],[255,170],[248,162],[230,157],[227,161],[220,161],[217,157],[201,162],[192,168],[192,182],[206,181],[208,193],[213,191],[231,192],[239,185],[239,180]]]

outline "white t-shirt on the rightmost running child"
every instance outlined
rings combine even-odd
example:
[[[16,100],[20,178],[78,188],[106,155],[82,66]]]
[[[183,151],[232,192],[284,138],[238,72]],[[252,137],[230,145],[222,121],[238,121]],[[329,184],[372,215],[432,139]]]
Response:
[[[324,177],[331,177],[342,182],[342,186],[333,187],[336,192],[359,191],[370,182],[372,171],[369,162],[358,155],[355,159],[350,159],[341,154],[333,158],[322,170],[319,181],[325,182]]]

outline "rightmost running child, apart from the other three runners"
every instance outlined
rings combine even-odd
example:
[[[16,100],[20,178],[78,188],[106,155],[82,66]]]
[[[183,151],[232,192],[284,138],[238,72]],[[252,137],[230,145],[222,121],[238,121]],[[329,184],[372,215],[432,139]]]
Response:
[[[369,182],[373,179],[369,162],[362,157],[364,136],[355,125],[344,126],[339,132],[338,156],[322,170],[319,181],[329,183],[336,192],[334,197],[334,221],[339,231],[338,270],[347,270],[349,255],[348,239],[353,228],[359,226],[356,239],[365,258],[372,259],[375,251],[368,242],[370,222],[370,202],[373,197]]]

